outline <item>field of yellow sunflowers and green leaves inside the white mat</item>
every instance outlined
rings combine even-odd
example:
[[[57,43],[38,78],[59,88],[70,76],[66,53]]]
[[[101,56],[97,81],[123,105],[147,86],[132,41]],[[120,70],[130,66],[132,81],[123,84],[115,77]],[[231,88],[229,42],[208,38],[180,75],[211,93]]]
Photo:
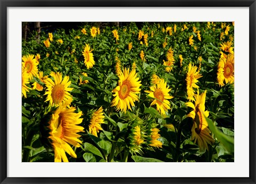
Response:
[[[22,162],[234,162],[234,22],[83,22],[22,40]]]

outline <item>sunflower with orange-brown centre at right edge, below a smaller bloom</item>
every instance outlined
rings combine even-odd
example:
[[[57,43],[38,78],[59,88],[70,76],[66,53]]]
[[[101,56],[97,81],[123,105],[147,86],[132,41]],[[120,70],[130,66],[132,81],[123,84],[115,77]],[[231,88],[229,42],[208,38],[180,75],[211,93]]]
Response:
[[[227,57],[221,57],[218,65],[217,80],[220,86],[234,83],[234,54],[228,54]]]

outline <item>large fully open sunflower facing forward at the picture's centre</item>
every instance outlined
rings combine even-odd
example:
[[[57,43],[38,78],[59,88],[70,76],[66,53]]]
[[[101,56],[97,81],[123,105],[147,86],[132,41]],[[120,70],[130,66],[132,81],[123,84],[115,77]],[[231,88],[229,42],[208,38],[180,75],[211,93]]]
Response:
[[[111,106],[116,106],[117,110],[126,113],[127,109],[131,110],[131,106],[135,106],[135,101],[139,101],[137,94],[141,90],[141,81],[139,81],[136,71],[133,69],[130,73],[129,68],[124,68],[118,77],[118,86],[112,91],[115,98],[111,101]]]

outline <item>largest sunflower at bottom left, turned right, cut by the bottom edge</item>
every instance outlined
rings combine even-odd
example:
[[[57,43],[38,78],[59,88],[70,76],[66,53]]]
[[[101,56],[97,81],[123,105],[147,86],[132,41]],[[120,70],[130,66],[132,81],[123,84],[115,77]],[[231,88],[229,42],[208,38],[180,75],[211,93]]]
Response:
[[[49,121],[49,129],[51,144],[54,149],[54,162],[68,162],[65,154],[67,152],[71,157],[76,158],[75,151],[70,147],[73,145],[80,147],[81,140],[78,138],[78,132],[84,132],[84,127],[78,126],[82,123],[83,118],[80,118],[82,111],[75,113],[75,108],[66,108],[59,106],[52,114]],[[69,145],[70,144],[70,145]]]

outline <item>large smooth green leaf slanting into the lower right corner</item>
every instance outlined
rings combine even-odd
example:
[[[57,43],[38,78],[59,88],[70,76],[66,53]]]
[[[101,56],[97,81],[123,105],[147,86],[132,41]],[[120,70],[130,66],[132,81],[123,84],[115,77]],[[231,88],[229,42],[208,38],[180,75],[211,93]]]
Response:
[[[222,145],[229,151],[229,153],[234,153],[234,138],[222,133],[211,121],[211,119],[206,118],[209,129],[215,135],[215,137],[222,143]]]

